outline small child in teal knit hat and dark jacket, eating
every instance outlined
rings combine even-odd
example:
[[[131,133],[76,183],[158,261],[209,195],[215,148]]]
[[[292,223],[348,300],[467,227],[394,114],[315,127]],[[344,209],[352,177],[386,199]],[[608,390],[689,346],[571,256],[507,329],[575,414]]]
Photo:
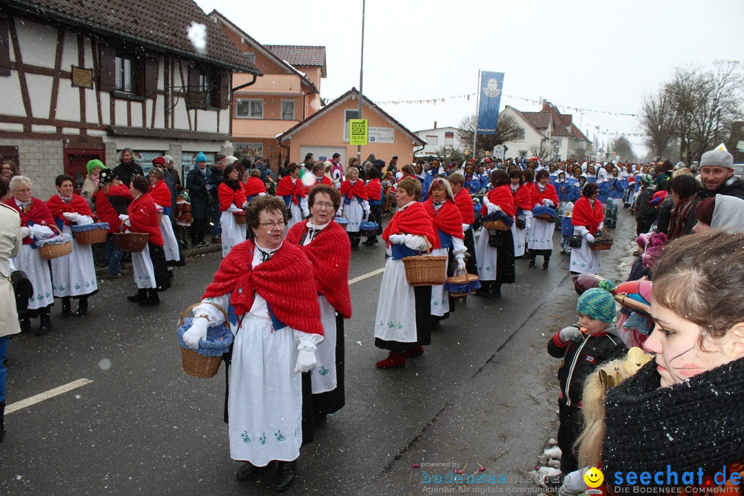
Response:
[[[558,447],[562,474],[577,469],[574,443],[581,432],[581,396],[584,380],[604,361],[623,355],[626,347],[612,325],[617,308],[612,296],[615,286],[603,280],[599,288],[588,289],[576,306],[579,323],[564,327],[548,342],[548,353],[563,362],[560,382]]]

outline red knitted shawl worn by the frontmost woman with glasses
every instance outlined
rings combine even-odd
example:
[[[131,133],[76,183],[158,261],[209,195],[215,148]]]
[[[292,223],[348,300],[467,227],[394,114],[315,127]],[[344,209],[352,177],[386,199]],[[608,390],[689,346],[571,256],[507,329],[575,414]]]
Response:
[[[240,316],[250,311],[256,292],[269,303],[281,323],[298,331],[323,335],[315,276],[300,248],[283,243],[273,257],[253,269],[254,249],[250,239],[234,246],[222,259],[202,298],[231,292],[230,303],[235,315]]]

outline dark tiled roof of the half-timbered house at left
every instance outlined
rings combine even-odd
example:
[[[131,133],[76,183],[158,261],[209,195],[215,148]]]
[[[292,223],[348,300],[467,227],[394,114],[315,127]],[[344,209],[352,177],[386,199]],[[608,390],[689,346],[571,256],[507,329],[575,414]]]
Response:
[[[179,54],[233,71],[260,74],[193,0],[6,1],[11,7],[32,15],[137,42],[156,51]],[[192,21],[207,27],[205,54],[197,54],[186,37]]]

